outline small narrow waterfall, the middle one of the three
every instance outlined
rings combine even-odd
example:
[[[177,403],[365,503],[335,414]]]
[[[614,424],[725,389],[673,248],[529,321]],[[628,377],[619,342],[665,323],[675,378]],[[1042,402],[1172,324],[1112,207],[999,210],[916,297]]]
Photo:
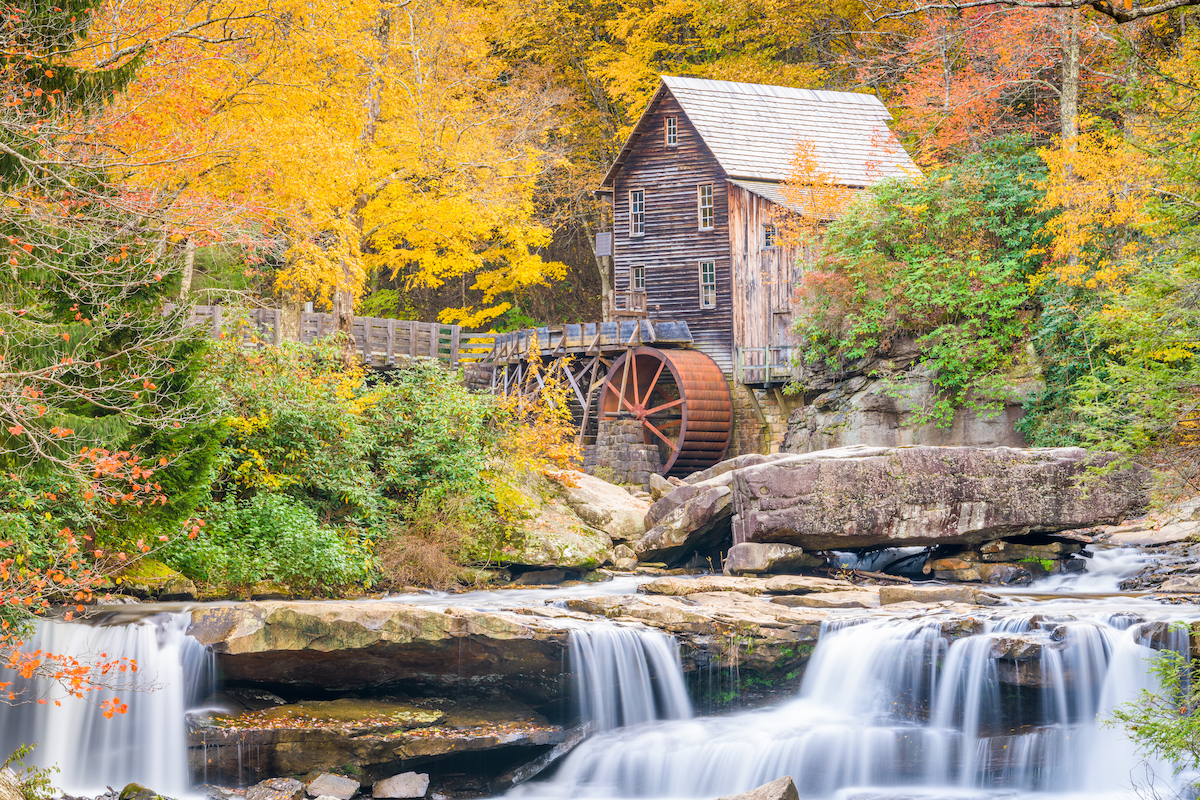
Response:
[[[618,625],[577,627],[571,631],[570,658],[580,716],[596,730],[691,716],[679,645],[665,633]]]

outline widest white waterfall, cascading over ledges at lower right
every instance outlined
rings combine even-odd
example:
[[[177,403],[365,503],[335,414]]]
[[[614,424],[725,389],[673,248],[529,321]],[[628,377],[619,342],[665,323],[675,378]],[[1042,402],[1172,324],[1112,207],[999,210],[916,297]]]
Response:
[[[791,775],[806,798],[1128,795],[1141,762],[1100,721],[1151,685],[1153,650],[1132,621],[1080,609],[827,624],[794,699],[612,729],[514,793],[715,798]]]

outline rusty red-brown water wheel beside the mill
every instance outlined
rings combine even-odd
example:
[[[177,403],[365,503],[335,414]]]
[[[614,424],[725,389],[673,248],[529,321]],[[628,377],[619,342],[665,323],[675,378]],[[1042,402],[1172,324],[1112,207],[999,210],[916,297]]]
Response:
[[[608,369],[598,409],[601,420],[638,419],[646,444],[658,445],[664,475],[712,467],[725,457],[733,432],[730,385],[697,350],[626,351]]]

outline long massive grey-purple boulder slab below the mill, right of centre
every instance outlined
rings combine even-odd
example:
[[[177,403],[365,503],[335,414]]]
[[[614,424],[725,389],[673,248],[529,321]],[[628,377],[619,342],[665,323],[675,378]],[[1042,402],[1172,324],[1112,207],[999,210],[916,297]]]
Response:
[[[732,473],[733,542],[973,545],[1115,523],[1148,470],[1078,447],[841,447]],[[666,500],[668,498],[664,498]]]

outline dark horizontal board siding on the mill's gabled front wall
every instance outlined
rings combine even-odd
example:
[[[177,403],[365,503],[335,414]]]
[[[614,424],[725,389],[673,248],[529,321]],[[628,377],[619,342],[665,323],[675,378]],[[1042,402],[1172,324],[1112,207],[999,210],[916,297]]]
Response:
[[[696,349],[733,373],[733,296],[730,276],[725,172],[683,109],[665,94],[646,133],[613,181],[616,288],[629,288],[630,267],[646,267],[646,302],[655,319],[688,323]],[[678,119],[678,145],[666,145],[666,118]],[[713,185],[713,229],[700,230],[697,186]],[[629,191],[646,192],[646,234],[629,235]],[[716,266],[716,307],[700,307],[700,263]]]

